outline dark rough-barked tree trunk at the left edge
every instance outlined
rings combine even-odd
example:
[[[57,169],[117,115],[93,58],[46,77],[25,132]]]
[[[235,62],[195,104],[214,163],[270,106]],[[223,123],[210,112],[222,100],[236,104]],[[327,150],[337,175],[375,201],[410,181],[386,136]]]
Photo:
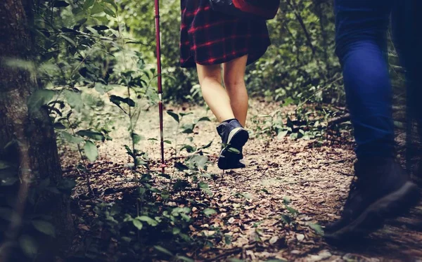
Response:
[[[18,214],[14,218],[25,219],[28,214],[51,216],[56,229],[56,240],[51,244],[63,244],[73,231],[69,196],[42,192],[35,202],[28,202],[29,194],[41,181],[50,181],[49,185],[63,183],[49,115],[46,110],[30,112],[27,106],[31,94],[39,89],[32,63],[32,23],[28,22],[31,9],[30,0],[1,0],[0,4],[0,164],[11,163],[20,178],[15,185],[15,203],[11,204]],[[3,188],[0,179],[0,192]],[[13,219],[7,237],[0,235],[0,240],[13,242],[22,231],[23,223]],[[49,247],[49,254],[55,253],[58,248],[49,244],[43,246]],[[0,261],[6,261],[2,246],[0,242]],[[45,256],[40,259],[49,261]]]

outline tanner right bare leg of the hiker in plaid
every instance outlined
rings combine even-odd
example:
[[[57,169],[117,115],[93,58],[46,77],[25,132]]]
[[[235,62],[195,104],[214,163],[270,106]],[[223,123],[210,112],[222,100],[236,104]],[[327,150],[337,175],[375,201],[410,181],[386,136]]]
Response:
[[[245,69],[248,55],[223,64],[224,86],[229,94],[234,117],[245,126],[248,116],[248,91],[245,86]]]

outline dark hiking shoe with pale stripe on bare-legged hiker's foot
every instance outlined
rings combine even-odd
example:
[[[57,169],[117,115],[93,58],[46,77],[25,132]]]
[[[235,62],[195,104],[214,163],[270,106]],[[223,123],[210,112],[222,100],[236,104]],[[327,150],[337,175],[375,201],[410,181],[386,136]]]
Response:
[[[222,150],[218,157],[219,169],[241,169],[245,164],[243,159],[243,145],[249,139],[249,133],[234,119],[231,122],[222,122],[217,126],[217,132],[222,138]]]

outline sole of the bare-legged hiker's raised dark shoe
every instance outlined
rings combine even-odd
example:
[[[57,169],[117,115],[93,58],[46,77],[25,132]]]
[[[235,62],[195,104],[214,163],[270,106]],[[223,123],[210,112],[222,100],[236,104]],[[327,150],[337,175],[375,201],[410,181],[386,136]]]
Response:
[[[229,134],[227,141],[228,147],[224,147],[219,154],[218,167],[219,169],[241,169],[245,164],[239,162],[243,156],[236,152],[230,152],[229,148],[236,148],[241,151],[243,145],[249,140],[249,133],[245,129],[234,129]]]

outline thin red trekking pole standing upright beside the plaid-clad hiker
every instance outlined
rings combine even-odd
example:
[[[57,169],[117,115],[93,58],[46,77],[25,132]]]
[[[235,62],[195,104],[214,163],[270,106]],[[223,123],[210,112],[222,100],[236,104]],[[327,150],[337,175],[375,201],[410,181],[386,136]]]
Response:
[[[161,171],[165,171],[164,161],[164,131],[162,124],[162,78],[161,78],[161,41],[160,41],[160,4],[155,0],[155,35],[157,46],[157,72],[158,72],[158,109],[160,111],[160,147],[161,147]]]

